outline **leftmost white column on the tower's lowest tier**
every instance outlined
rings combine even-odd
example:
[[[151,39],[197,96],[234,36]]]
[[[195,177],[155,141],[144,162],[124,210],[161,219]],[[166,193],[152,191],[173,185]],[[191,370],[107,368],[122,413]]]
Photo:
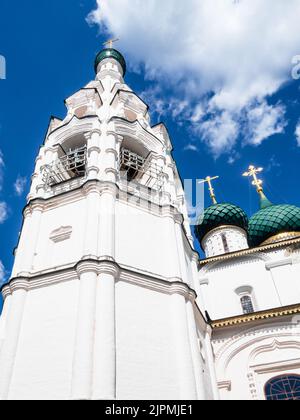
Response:
[[[14,291],[11,297],[10,310],[6,320],[5,339],[0,354],[0,400],[9,398],[9,388],[16,360],[26,296],[26,290],[19,289]]]

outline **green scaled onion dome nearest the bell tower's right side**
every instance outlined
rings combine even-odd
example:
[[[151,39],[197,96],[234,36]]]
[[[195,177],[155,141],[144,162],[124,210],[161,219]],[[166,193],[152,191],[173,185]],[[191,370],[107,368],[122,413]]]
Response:
[[[201,244],[208,232],[224,225],[237,226],[247,231],[248,217],[244,210],[233,204],[214,204],[200,215],[195,227],[195,235]]]

